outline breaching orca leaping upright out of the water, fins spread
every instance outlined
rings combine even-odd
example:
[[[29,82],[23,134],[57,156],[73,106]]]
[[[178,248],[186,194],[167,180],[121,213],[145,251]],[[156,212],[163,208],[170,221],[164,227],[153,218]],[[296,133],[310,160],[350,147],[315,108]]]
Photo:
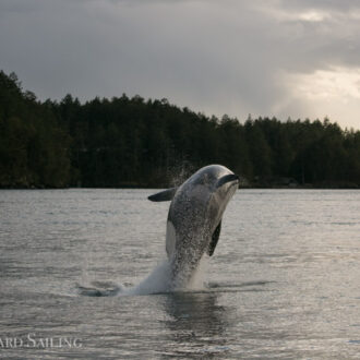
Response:
[[[166,251],[173,288],[184,287],[206,252],[213,255],[227,204],[239,178],[221,165],[206,166],[179,188],[148,196],[171,201],[166,229]]]

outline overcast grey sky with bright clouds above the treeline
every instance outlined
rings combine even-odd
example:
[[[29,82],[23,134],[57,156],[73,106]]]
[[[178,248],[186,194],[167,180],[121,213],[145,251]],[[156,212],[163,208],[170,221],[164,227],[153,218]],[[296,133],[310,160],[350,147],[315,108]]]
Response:
[[[41,99],[139,94],[360,129],[360,1],[0,0],[0,69]]]

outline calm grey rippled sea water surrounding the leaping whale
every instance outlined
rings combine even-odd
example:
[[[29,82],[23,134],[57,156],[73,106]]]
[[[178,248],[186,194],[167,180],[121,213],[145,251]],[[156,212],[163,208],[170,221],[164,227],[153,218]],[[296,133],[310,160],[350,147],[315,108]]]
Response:
[[[204,287],[121,296],[166,257],[151,193],[0,191],[0,358],[360,358],[359,191],[239,190]]]

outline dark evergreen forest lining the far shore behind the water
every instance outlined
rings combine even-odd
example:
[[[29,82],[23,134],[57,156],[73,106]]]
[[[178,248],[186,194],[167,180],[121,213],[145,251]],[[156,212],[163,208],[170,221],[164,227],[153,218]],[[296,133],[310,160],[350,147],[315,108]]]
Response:
[[[40,101],[0,72],[0,188],[173,185],[223,164],[243,187],[360,187],[360,131],[328,119],[243,123],[127,95]]]

